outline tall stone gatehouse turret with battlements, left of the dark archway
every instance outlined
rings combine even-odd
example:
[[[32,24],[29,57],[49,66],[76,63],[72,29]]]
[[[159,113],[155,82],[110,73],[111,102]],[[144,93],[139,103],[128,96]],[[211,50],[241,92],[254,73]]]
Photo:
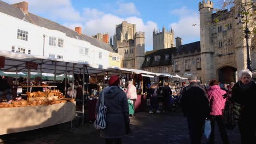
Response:
[[[202,1],[199,3],[200,11],[200,47],[202,82],[207,83],[216,77],[214,68],[214,46],[212,42],[212,13],[213,2]]]

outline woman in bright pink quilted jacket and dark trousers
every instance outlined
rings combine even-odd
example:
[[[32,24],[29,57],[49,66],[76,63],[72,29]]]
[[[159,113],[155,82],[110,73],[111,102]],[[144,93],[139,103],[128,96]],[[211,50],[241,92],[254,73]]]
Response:
[[[222,121],[222,110],[225,106],[226,99],[223,99],[222,95],[226,92],[219,87],[219,83],[217,80],[211,80],[210,88],[207,91],[207,95],[210,101],[210,119],[211,121],[211,135],[209,143],[214,143],[214,124],[217,122],[220,136],[222,137],[223,143],[229,143],[228,134],[226,133],[226,129],[224,123]]]

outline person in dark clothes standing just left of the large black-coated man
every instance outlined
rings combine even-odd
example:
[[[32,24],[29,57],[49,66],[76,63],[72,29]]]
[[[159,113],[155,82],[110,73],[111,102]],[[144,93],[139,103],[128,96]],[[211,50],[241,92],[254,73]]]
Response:
[[[162,88],[162,95],[164,96],[164,110],[162,112],[166,112],[168,110],[168,107],[170,106],[171,103],[171,95],[172,95],[172,90],[169,87],[169,83],[165,82],[165,86]]]

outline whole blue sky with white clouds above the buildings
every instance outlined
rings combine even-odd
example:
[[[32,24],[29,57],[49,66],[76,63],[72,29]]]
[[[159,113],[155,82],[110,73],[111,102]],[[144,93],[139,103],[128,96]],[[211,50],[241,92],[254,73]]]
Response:
[[[9,4],[21,0],[3,0]],[[218,8],[224,0],[213,0]],[[27,0],[30,13],[74,29],[81,26],[86,35],[115,33],[122,21],[136,24],[136,32],[145,32],[145,50],[153,50],[153,30],[173,28],[174,37],[183,44],[200,40],[197,0]],[[196,24],[195,26],[193,26]],[[159,31],[159,30],[158,30]]]

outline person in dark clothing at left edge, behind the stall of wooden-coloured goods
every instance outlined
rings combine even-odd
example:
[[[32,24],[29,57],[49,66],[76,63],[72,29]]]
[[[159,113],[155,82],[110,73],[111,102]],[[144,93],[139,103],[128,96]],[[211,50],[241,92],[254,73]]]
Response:
[[[8,82],[2,79],[2,76],[0,76],[0,100],[2,99],[3,95],[6,95],[8,103],[13,101],[13,93],[11,92],[11,87],[9,86]]]

